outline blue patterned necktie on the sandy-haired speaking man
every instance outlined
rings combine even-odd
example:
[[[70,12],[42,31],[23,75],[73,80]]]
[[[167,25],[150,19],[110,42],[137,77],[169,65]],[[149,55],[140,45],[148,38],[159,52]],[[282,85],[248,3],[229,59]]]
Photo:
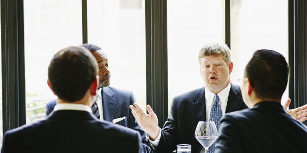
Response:
[[[214,96],[214,102],[211,106],[211,111],[210,111],[210,119],[211,121],[214,121],[215,125],[217,126],[218,132],[219,132],[219,121],[220,118],[222,117],[222,109],[220,108],[219,105],[219,96],[216,94]],[[215,147],[216,141],[209,147],[208,153],[214,153],[215,150],[217,149]]]

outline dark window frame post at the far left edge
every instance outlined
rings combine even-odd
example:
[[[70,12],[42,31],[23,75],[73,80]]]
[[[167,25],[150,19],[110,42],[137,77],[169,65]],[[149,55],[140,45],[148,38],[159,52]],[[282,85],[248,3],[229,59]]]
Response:
[[[1,0],[3,133],[25,124],[23,0]]]

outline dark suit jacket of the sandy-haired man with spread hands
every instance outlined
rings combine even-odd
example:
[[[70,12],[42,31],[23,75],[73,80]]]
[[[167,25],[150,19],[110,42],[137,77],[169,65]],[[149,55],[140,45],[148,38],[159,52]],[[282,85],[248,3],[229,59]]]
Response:
[[[226,113],[247,108],[241,96],[240,87],[231,84]],[[176,96],[171,112],[161,130],[157,153],[171,153],[177,144],[192,145],[192,153],[199,153],[202,146],[195,138],[198,121],[206,120],[204,87]]]

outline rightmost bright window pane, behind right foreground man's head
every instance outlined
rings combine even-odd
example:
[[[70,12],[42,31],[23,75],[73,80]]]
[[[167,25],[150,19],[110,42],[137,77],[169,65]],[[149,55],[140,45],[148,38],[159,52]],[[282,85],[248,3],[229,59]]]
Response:
[[[232,82],[243,77],[245,65],[259,49],[288,58],[288,0],[231,0]],[[282,102],[287,97],[288,89]]]

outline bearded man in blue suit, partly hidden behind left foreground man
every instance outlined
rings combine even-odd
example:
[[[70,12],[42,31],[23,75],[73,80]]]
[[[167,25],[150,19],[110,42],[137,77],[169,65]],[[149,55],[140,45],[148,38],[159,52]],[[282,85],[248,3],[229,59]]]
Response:
[[[135,102],[135,97],[131,91],[110,87],[110,70],[107,56],[99,46],[93,44],[82,44],[95,57],[98,63],[99,85],[95,104],[98,106],[97,117],[100,120],[116,123],[138,131],[142,137],[143,153],[150,153],[145,132],[138,126],[133,117],[129,105]],[[48,116],[56,100],[48,102],[45,106],[45,114]]]

